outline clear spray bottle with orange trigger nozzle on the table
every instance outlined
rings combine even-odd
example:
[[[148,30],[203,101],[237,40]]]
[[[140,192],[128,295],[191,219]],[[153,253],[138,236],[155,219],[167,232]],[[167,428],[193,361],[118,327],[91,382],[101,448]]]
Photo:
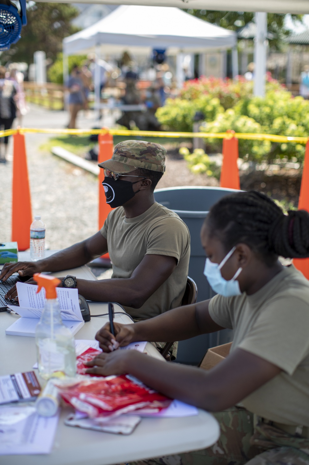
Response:
[[[43,379],[61,375],[75,376],[76,355],[72,332],[61,319],[56,287],[60,279],[47,274],[34,274],[40,292],[46,291],[46,304],[35,330],[39,374]]]

